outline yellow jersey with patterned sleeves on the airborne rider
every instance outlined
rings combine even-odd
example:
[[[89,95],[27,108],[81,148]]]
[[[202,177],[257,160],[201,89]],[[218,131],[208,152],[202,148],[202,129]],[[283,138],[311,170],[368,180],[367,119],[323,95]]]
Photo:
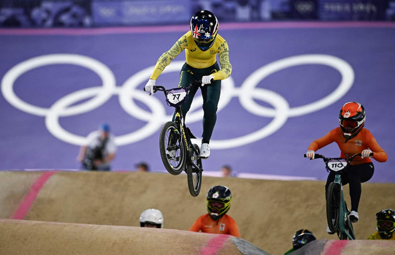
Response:
[[[214,80],[224,80],[232,72],[232,65],[229,62],[228,43],[222,36],[217,35],[213,46],[206,51],[202,51],[196,46],[192,32],[188,31],[177,40],[173,47],[160,56],[150,79],[156,80],[165,67],[170,64],[171,60],[177,57],[183,50],[185,50],[186,63],[198,69],[214,65],[218,53],[221,69],[212,74]]]

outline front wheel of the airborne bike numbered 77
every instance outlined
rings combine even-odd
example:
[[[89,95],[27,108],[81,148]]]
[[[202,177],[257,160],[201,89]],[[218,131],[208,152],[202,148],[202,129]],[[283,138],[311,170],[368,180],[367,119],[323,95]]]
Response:
[[[172,175],[179,175],[186,163],[186,148],[180,134],[177,124],[172,121],[166,122],[160,130],[160,157],[166,170]],[[174,150],[169,150],[170,148]],[[171,154],[174,154],[174,156],[171,156]]]

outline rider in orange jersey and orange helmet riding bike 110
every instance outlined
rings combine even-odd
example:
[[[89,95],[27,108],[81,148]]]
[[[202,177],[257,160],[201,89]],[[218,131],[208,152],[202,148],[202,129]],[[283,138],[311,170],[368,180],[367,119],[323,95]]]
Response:
[[[342,106],[339,112],[340,127],[331,130],[328,134],[313,141],[308,147],[307,157],[314,159],[315,151],[328,145],[337,143],[340,148],[340,157],[352,156],[362,153],[362,156],[355,158],[346,173],[341,174],[342,184],[350,184],[351,214],[350,220],[357,221],[359,199],[361,198],[361,182],[369,181],[374,173],[374,166],[370,159],[378,162],[386,162],[387,154],[378,145],[369,130],[363,128],[365,125],[365,109],[357,102],[348,102]],[[331,182],[335,179],[335,173],[329,173],[325,185],[326,191]],[[329,232],[329,231],[328,231]]]

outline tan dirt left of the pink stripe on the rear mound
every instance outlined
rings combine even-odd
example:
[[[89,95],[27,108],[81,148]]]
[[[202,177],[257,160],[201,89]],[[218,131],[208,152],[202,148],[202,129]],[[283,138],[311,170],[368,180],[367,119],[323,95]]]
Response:
[[[40,172],[0,171],[0,219],[11,218]]]

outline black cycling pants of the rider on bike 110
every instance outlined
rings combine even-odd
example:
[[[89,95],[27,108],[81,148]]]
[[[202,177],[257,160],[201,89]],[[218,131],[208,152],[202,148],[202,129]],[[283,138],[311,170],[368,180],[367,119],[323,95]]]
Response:
[[[346,173],[340,174],[343,185],[350,184],[351,210],[358,212],[359,200],[361,199],[361,182],[369,181],[374,173],[373,163],[365,163],[350,166]],[[328,186],[335,180],[335,173],[330,172],[325,184],[325,198]]]

